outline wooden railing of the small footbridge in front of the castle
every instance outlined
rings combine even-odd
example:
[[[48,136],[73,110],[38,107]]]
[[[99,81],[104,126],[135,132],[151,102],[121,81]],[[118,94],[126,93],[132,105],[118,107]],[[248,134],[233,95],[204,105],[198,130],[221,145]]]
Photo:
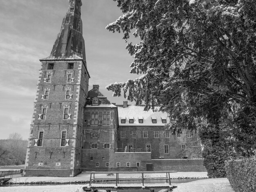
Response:
[[[171,187],[171,177],[170,177],[170,173],[173,172],[177,172],[177,171],[138,171],[138,172],[83,172],[83,173],[89,173],[90,174],[90,183],[88,188],[92,188],[92,183],[95,183],[95,181],[115,181],[115,187],[114,188],[118,188],[120,186],[118,186],[119,181],[141,181],[142,182],[142,186],[141,188],[145,188],[144,183],[145,181],[148,180],[166,180],[166,183],[168,183],[168,187]],[[162,177],[150,177],[147,176],[145,177],[145,174],[152,174],[152,173],[159,173],[159,174],[164,174],[164,176]],[[95,177],[96,174],[114,174],[115,178],[110,178],[110,177]],[[137,178],[128,178],[128,177],[120,177],[120,174],[141,174],[141,177],[137,177]],[[166,175],[166,176],[165,176]],[[132,182],[131,182],[132,184]],[[160,183],[155,183],[155,184],[160,184]],[[107,185],[106,185],[107,187]],[[157,186],[158,188],[160,187],[166,187],[166,185],[159,185]],[[131,186],[131,188],[133,188]]]

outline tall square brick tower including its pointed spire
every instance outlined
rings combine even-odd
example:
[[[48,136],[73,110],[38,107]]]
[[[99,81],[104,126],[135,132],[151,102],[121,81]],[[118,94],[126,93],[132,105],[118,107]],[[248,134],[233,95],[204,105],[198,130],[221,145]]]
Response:
[[[41,59],[25,176],[75,176],[81,172],[83,106],[89,74],[81,0],[69,0],[51,55]]]

